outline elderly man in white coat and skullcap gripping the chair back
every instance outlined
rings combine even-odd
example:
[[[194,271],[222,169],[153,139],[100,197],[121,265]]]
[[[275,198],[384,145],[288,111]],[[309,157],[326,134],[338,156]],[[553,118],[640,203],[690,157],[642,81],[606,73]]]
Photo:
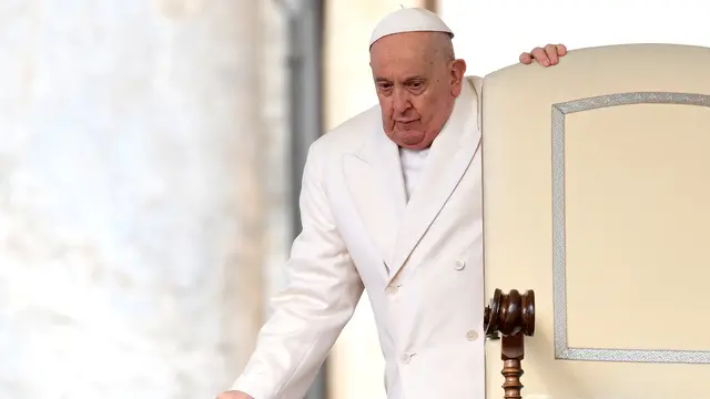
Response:
[[[484,399],[481,80],[465,76],[452,38],[422,9],[375,28],[379,104],[311,146],[287,286],[220,399],[303,398],[363,289],[388,398]],[[520,62],[565,53],[548,45]]]

